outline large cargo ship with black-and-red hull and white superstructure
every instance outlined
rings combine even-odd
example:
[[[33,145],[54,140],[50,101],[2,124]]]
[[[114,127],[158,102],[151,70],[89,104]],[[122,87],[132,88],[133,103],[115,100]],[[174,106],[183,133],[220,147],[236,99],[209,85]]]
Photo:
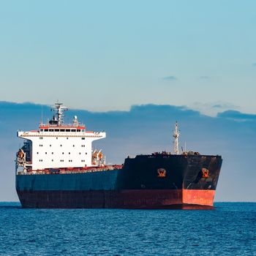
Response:
[[[222,157],[179,153],[180,132],[173,129],[173,152],[127,157],[106,165],[92,142],[105,132],[88,131],[74,116],[64,124],[61,103],[38,130],[18,131],[24,141],[16,154],[16,191],[23,208],[211,209]]]

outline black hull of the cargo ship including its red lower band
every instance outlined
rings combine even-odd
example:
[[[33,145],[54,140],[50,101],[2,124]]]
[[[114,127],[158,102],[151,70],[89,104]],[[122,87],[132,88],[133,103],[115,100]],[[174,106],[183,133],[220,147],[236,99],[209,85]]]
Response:
[[[219,156],[141,155],[121,170],[18,175],[16,189],[24,208],[212,208],[221,165]]]

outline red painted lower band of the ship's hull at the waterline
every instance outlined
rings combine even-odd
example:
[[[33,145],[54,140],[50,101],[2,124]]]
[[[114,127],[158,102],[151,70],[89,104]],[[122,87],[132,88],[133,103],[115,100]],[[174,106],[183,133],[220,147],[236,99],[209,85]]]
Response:
[[[214,190],[18,191],[23,208],[211,209]]]

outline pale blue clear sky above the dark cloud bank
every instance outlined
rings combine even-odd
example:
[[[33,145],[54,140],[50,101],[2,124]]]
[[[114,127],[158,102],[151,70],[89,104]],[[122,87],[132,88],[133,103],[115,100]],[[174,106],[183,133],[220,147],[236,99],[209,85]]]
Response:
[[[0,1],[0,100],[255,113],[255,1]]]

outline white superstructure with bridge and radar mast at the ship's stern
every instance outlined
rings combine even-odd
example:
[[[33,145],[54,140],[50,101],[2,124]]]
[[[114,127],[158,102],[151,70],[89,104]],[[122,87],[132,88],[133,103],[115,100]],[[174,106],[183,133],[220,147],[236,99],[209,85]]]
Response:
[[[105,165],[101,151],[92,152],[91,143],[106,137],[105,132],[86,131],[86,127],[74,116],[72,124],[64,124],[61,103],[53,107],[56,113],[48,124],[40,124],[39,130],[18,131],[25,139],[17,153],[16,170],[45,170],[49,168],[91,167]],[[21,170],[20,170],[21,169]]]

